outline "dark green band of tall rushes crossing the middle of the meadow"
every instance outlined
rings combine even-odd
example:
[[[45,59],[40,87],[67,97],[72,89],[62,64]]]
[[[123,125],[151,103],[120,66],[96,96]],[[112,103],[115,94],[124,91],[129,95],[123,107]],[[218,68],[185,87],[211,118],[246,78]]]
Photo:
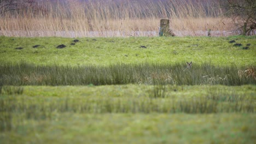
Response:
[[[255,66],[218,67],[194,64],[186,69],[181,63],[112,64],[109,66],[1,64],[2,85],[248,85],[256,84]],[[248,72],[251,71],[251,72]]]

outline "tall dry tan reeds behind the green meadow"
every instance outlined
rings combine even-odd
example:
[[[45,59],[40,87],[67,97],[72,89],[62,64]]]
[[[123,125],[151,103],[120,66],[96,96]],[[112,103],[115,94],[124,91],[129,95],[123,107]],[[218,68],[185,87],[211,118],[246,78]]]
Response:
[[[170,19],[178,35],[205,35],[203,32],[207,29],[232,29],[229,19],[219,17],[221,13],[217,2],[210,0],[44,1],[30,9],[2,15],[0,32],[1,35],[30,37],[154,36],[158,34],[160,19]],[[135,33],[138,31],[155,33]]]

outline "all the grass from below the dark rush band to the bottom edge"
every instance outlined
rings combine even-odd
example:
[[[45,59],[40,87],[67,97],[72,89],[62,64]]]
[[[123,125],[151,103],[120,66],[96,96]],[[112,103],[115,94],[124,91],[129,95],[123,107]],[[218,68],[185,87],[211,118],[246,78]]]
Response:
[[[255,95],[255,85],[3,86],[0,140],[254,143]]]

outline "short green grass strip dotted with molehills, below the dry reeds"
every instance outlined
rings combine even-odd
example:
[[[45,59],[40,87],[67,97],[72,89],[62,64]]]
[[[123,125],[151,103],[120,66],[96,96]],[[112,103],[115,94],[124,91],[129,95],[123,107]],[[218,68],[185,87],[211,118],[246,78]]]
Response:
[[[37,65],[109,65],[115,63],[211,62],[214,65],[256,65],[256,37],[131,37],[131,38],[10,38],[0,37],[0,61]],[[233,46],[235,40],[242,46]],[[66,45],[56,49],[58,45]],[[243,50],[251,44],[248,50]],[[33,48],[34,45],[40,45]],[[146,49],[141,47],[146,46]],[[15,48],[22,47],[22,50]]]

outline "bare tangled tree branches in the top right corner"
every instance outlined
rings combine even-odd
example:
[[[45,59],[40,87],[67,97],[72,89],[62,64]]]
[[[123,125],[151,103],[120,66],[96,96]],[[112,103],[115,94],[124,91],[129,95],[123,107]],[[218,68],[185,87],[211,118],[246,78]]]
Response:
[[[224,14],[232,17],[238,29],[242,29],[243,35],[249,35],[256,29],[255,0],[220,0],[219,3]]]

